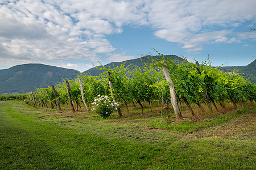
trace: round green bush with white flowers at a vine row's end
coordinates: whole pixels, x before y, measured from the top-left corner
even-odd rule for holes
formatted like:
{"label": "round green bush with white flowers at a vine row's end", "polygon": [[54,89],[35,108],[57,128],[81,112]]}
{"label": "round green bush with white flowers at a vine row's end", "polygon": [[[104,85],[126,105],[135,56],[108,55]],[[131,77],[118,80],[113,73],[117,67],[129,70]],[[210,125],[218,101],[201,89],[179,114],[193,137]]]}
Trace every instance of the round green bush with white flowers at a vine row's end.
{"label": "round green bush with white flowers at a vine row's end", "polygon": [[92,111],[99,114],[103,118],[109,117],[110,114],[113,113],[113,111],[116,109],[115,105],[119,106],[118,103],[114,104],[111,100],[109,100],[109,96],[101,95],[98,95],[92,104],[96,105],[96,108],[93,108]]}

